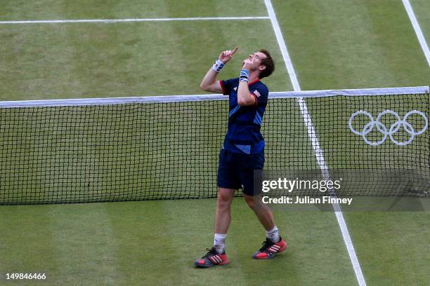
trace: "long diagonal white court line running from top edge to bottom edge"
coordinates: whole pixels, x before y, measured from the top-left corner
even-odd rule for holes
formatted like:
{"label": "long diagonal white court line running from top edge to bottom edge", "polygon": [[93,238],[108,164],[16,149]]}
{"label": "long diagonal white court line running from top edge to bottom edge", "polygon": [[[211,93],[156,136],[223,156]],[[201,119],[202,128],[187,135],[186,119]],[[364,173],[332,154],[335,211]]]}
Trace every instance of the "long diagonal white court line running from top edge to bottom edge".
{"label": "long diagonal white court line running from top edge to bottom edge", "polygon": [[[271,0],[264,0],[264,3],[266,4],[266,8],[269,16],[271,17],[273,30],[275,32],[276,39],[278,40],[282,57],[284,57],[285,66],[287,67],[289,78],[291,79],[294,91],[299,91],[301,90],[299,86],[299,81],[297,81],[297,76],[296,76],[296,73],[294,72],[294,67],[292,66],[292,61],[291,61],[291,58],[289,57],[284,38],[282,37],[282,33],[280,31],[278,20],[276,19],[275,11],[273,10]],[[320,144],[316,136],[315,128],[313,127],[313,124],[312,124],[311,116],[308,113],[308,107],[306,105],[306,102],[304,101],[303,97],[299,97],[297,98],[297,103],[299,104],[301,114],[306,124],[306,128],[308,129],[308,135],[311,138],[312,147],[313,147],[313,150],[315,151],[315,156],[318,161],[318,165],[320,166],[321,172],[323,173],[323,177],[328,180],[330,179],[328,167],[327,167],[327,164],[325,163],[323,150],[320,149]],[[346,227],[344,214],[342,214],[341,207],[339,206],[339,204],[335,203],[332,205],[333,205],[334,212],[336,214],[337,223],[339,224],[339,227],[341,229],[342,237],[344,238],[346,249],[348,250],[349,258],[351,259],[354,272],[356,273],[358,285],[365,286],[366,282],[363,276],[363,271],[361,271],[356,250],[354,250],[351,236],[349,236],[349,231],[348,231],[348,228]]]}

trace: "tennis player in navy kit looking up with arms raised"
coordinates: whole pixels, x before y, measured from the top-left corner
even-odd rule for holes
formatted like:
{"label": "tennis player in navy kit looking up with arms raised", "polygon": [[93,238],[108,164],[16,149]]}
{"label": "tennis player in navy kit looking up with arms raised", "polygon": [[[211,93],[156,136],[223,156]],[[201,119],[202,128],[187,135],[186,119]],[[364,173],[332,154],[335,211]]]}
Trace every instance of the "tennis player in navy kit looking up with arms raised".
{"label": "tennis player in navy kit looking up with arms raised", "polygon": [[224,246],[230,225],[230,205],[235,190],[240,188],[245,201],[266,229],[266,240],[252,257],[272,258],[287,248],[287,243],[279,236],[271,209],[261,201],[261,188],[254,189],[254,170],[262,170],[264,164],[264,139],[260,128],[268,101],[268,88],[260,79],[270,76],[275,64],[267,50],[259,50],[242,62],[238,78],[217,81],[219,71],[237,49],[224,50],[200,83],[204,91],[228,95],[230,112],[228,130],[219,154],[214,247],[195,260],[197,267],[228,264]]}

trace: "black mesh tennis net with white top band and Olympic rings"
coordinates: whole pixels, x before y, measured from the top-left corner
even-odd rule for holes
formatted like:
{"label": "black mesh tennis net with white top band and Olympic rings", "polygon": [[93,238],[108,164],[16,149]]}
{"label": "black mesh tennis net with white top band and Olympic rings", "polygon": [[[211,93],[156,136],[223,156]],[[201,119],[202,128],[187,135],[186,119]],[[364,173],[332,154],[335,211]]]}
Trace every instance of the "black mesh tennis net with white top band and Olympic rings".
{"label": "black mesh tennis net with white top band and Olympic rings", "polygon": [[[429,100],[429,87],[271,93],[265,169],[385,174],[341,194],[426,195]],[[0,102],[0,204],[214,197],[227,118],[223,95]]]}

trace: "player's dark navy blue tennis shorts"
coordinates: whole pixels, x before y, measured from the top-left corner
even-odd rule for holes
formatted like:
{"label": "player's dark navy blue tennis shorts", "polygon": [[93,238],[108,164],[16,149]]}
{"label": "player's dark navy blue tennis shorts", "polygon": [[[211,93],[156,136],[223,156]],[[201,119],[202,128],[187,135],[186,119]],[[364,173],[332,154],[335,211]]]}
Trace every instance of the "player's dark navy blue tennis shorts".
{"label": "player's dark navy blue tennis shorts", "polygon": [[221,149],[216,183],[221,188],[242,189],[246,195],[254,196],[261,193],[261,188],[254,188],[254,170],[263,170],[263,165],[264,153],[240,154]]}

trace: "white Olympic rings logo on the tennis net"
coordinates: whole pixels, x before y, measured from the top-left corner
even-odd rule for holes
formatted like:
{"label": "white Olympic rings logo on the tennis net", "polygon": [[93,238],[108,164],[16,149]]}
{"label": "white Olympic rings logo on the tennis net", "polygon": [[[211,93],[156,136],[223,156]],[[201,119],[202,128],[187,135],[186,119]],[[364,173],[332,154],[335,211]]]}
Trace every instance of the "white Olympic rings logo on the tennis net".
{"label": "white Olympic rings logo on the tennis net", "polygon": [[[370,122],[366,123],[366,125],[364,125],[363,130],[357,131],[356,129],[353,128],[352,122],[353,122],[354,118],[356,118],[356,116],[358,116],[360,114],[367,116],[370,119]],[[391,126],[389,128],[387,128],[386,125],[384,125],[384,123],[381,122],[381,118],[385,114],[391,114],[396,118],[396,122],[391,124]],[[419,114],[424,119],[424,127],[421,130],[416,131],[413,128],[412,124],[410,124],[408,122],[408,117],[411,116],[412,114]],[[415,136],[420,135],[426,131],[426,129],[429,125],[429,120],[428,120],[426,114],[424,114],[424,112],[418,111],[418,110],[409,111],[407,114],[405,114],[405,116],[403,116],[403,119],[400,119],[400,116],[398,115],[397,112],[392,111],[392,110],[385,110],[385,111],[382,111],[380,114],[378,114],[376,120],[373,118],[372,114],[370,114],[369,112],[360,110],[360,111],[356,111],[353,114],[351,114],[351,118],[349,118],[348,125],[349,125],[349,129],[351,129],[351,131],[354,134],[361,135],[363,137],[364,142],[366,142],[369,145],[378,146],[378,145],[384,143],[386,140],[386,137],[389,136],[391,141],[394,144],[396,144],[398,146],[405,146],[405,145],[410,144],[410,142],[412,142],[412,140],[414,139]],[[367,139],[366,135],[369,134],[375,126],[376,126],[377,130],[382,133],[382,139],[380,139],[377,142],[372,142],[369,139]],[[399,142],[398,140],[396,140],[393,137],[394,133],[396,133],[400,128],[403,128],[410,135],[409,139],[406,140],[405,142]]]}

